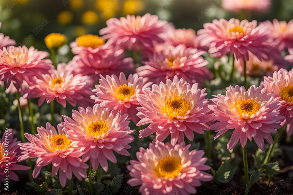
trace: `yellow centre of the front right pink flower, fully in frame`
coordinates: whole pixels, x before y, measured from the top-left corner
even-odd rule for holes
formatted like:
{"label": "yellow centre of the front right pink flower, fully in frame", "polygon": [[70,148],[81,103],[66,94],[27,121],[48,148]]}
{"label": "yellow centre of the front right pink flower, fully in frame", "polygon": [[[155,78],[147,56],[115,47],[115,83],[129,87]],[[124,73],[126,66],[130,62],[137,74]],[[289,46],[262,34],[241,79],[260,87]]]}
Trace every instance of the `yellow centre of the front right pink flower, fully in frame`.
{"label": "yellow centre of the front right pink flower, fully in frame", "polygon": [[[251,98],[239,102],[236,109],[242,118],[250,119],[251,115],[257,113],[257,111],[259,110],[259,105],[254,99]],[[243,113],[244,115],[248,114],[248,117],[243,116]]]}

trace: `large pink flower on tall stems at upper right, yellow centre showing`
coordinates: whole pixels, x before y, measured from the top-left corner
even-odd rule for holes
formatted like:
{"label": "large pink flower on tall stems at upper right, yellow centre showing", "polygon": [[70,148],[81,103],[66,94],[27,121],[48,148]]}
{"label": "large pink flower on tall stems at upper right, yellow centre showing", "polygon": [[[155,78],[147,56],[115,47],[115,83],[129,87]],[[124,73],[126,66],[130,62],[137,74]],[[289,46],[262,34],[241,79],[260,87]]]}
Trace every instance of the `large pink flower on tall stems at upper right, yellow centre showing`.
{"label": "large pink flower on tall stems at upper right, yellow centre showing", "polygon": [[257,26],[257,21],[231,18],[229,21],[221,18],[205,23],[204,29],[197,31],[201,46],[209,46],[212,57],[222,57],[230,52],[235,53],[236,59],[249,60],[248,51],[251,51],[260,60],[265,50],[268,33],[265,28]]}

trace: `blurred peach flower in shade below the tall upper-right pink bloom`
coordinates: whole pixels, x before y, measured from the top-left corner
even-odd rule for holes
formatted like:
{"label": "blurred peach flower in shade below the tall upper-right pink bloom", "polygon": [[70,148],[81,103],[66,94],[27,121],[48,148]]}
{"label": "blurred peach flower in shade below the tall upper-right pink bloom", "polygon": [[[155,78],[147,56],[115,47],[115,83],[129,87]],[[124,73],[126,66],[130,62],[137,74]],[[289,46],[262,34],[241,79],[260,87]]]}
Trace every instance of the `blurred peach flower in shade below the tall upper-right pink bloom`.
{"label": "blurred peach flower in shade below the tall upper-right pink bloom", "polygon": [[[280,70],[282,65],[277,65],[273,60],[260,61],[255,55],[248,51],[249,60],[246,62],[246,74],[251,77],[271,76],[274,71]],[[235,60],[235,68],[243,73],[243,60]]]}

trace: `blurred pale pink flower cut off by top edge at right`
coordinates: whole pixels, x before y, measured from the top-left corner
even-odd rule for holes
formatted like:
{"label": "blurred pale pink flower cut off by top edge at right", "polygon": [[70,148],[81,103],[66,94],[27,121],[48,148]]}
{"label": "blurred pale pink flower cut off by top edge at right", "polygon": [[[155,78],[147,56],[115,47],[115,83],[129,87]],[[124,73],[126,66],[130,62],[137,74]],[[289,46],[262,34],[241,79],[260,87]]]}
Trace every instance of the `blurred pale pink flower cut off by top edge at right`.
{"label": "blurred pale pink flower cut off by top edge at right", "polygon": [[222,7],[227,11],[240,11],[240,9],[265,12],[270,8],[268,0],[222,0]]}

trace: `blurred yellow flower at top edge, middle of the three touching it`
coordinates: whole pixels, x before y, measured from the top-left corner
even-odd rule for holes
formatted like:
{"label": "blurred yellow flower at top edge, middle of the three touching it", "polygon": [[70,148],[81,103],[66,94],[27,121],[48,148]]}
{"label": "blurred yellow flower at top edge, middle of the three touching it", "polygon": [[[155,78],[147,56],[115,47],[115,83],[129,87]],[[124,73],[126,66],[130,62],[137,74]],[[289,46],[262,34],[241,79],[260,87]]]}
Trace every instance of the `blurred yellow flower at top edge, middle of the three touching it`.
{"label": "blurred yellow flower at top edge, middle of the three touching it", "polygon": [[119,8],[118,0],[97,0],[96,9],[100,11],[100,17],[108,20],[116,15],[116,11]]}

